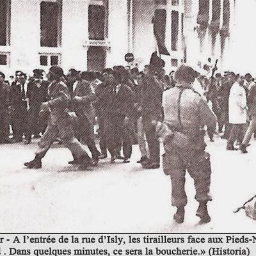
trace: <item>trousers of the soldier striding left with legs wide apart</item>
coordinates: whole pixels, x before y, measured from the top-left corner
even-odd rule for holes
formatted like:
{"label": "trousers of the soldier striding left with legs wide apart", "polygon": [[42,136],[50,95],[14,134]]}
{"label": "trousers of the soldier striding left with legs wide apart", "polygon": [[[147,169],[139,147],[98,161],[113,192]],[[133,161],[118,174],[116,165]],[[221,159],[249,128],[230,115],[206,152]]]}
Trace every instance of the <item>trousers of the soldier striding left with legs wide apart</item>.
{"label": "trousers of the soldier striding left with legs wide apart", "polygon": [[46,131],[38,143],[36,156],[40,158],[44,157],[57,136],[60,137],[65,147],[67,147],[77,159],[82,156],[88,156],[83,145],[75,138],[72,125],[68,122],[58,125],[52,125],[49,122]]}

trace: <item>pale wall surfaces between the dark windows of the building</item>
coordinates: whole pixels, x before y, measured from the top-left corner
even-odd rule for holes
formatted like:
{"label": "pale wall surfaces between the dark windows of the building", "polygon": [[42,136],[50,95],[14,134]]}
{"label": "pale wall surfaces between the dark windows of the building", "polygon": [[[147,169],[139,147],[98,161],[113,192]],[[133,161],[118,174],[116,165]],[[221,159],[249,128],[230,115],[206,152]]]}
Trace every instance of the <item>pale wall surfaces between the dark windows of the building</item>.
{"label": "pale wall surfaces between the dark windows of the building", "polygon": [[[234,0],[230,0],[233,3]],[[170,4],[168,0],[168,4]],[[223,60],[223,69],[234,69],[236,72],[255,72],[254,56],[256,55],[256,36],[252,24],[256,23],[254,10],[255,1],[246,3],[236,1],[235,16],[230,21],[230,47],[227,47]],[[39,67],[38,52],[60,52],[61,65],[65,71],[68,68],[85,70],[87,67],[87,51],[84,42],[88,40],[88,4],[89,0],[63,0],[62,6],[62,44],[56,49],[40,47],[40,0],[12,0],[11,15],[11,45],[0,46],[0,51],[11,52],[11,67],[0,67],[7,73],[24,70],[31,73],[33,68]],[[154,15],[154,0],[133,0],[132,52],[139,67],[149,63],[150,56],[156,49],[153,34],[152,17]],[[185,0],[184,33],[188,63],[196,64],[198,54],[198,36],[194,27],[198,1]],[[170,50],[170,12],[168,5],[166,46]],[[234,22],[235,21],[235,22]],[[232,23],[233,22],[233,23]],[[128,13],[127,0],[109,0],[109,29],[108,39],[110,50],[107,53],[107,67],[125,65],[124,55],[128,52]],[[216,43],[217,56],[220,44]],[[219,53],[218,53],[219,52]],[[180,52],[173,55],[181,57]],[[198,57],[199,56],[199,57]],[[205,54],[206,56],[206,54]],[[234,60],[236,56],[236,60]],[[170,69],[170,57],[164,57],[167,69]],[[239,71],[241,70],[241,71]]]}

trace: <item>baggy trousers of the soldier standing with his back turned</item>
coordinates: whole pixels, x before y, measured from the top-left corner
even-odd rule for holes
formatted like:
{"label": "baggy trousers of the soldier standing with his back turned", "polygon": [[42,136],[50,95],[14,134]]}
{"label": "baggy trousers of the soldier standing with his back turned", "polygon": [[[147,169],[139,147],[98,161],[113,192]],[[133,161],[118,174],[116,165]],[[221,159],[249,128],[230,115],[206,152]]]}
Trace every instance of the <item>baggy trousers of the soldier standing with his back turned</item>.
{"label": "baggy trousers of the soldier standing with his back turned", "polygon": [[198,202],[211,201],[211,162],[204,150],[172,150],[163,155],[163,170],[172,180],[172,205],[184,207],[187,202],[185,192],[186,170],[194,180]]}

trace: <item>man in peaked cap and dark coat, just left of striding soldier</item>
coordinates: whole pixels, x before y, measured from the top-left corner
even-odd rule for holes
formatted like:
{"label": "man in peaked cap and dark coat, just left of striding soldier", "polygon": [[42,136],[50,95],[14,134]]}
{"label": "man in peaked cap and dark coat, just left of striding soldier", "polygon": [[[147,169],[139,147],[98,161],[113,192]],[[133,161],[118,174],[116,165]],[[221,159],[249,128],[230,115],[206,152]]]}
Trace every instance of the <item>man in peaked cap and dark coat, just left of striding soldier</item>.
{"label": "man in peaked cap and dark coat, just left of striding soldier", "polygon": [[34,138],[40,138],[40,132],[43,132],[46,125],[42,125],[42,122],[39,118],[40,106],[42,102],[47,100],[47,90],[48,90],[48,81],[43,80],[44,70],[42,69],[34,69],[33,70],[33,78],[28,83],[27,89],[27,99],[29,104],[28,111],[28,130],[25,136],[25,143],[29,144],[31,142],[32,134],[34,134]]}

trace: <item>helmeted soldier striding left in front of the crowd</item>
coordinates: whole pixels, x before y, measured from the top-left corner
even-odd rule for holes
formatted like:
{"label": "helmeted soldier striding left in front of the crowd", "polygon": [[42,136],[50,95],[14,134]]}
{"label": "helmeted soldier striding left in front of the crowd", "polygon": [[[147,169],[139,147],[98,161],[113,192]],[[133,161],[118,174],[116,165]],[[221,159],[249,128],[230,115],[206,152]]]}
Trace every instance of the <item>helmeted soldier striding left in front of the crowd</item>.
{"label": "helmeted soldier striding left in front of the crowd", "polygon": [[81,164],[82,168],[86,168],[90,164],[90,157],[74,136],[72,122],[67,112],[70,93],[68,92],[67,85],[61,81],[61,77],[63,77],[61,67],[54,65],[49,69],[47,75],[50,82],[48,87],[49,100],[42,103],[40,111],[40,113],[48,113],[48,125],[38,143],[35,159],[24,163],[28,168],[42,168],[42,158],[57,136],[60,136],[63,144],[76,157],[77,163]]}

